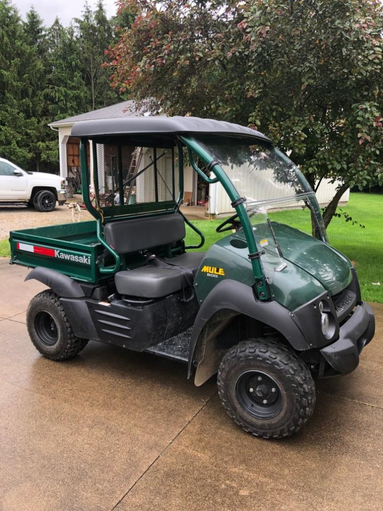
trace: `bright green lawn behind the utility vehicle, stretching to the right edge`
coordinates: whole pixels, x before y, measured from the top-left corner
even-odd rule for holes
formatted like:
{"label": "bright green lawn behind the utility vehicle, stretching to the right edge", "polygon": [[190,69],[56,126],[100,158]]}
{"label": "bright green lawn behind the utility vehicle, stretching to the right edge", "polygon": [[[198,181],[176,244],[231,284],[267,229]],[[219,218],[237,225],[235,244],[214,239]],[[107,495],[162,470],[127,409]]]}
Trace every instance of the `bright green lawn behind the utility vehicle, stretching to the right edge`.
{"label": "bright green lawn behind the utility vehicle, stretching to the right edge", "polygon": [[[354,220],[366,226],[361,229],[344,218],[333,218],[327,229],[331,245],[354,262],[361,285],[363,299],[383,303],[383,195],[353,193],[347,206],[342,207]],[[271,213],[270,217],[311,232],[310,214],[307,210],[290,210]],[[215,229],[222,220],[193,220],[205,234],[205,247],[223,237]],[[195,243],[197,236],[188,231],[186,241]],[[380,282],[374,286],[373,282]]]}

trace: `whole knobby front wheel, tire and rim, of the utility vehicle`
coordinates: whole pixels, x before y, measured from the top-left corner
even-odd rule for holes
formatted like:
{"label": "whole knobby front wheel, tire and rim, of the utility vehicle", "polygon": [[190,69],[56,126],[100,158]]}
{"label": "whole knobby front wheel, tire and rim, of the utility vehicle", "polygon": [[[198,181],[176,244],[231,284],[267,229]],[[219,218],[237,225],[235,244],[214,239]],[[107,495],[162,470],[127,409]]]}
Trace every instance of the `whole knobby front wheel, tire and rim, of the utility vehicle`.
{"label": "whole knobby front wheel, tire and rim, of the utility vehicle", "polygon": [[304,362],[278,341],[249,339],[222,359],[218,393],[230,417],[245,431],[282,438],[313,414],[313,377]]}

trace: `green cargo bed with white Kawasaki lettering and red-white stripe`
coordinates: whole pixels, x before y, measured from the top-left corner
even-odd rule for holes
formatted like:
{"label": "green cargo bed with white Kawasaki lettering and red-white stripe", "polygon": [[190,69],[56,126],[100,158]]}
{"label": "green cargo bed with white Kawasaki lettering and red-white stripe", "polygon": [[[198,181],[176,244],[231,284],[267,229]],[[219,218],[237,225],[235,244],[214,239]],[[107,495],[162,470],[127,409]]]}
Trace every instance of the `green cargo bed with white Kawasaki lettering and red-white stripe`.
{"label": "green cargo bed with white Kawasaki lettering and red-white stripe", "polygon": [[49,225],[10,233],[11,264],[51,268],[76,280],[96,283],[103,246],[95,221]]}

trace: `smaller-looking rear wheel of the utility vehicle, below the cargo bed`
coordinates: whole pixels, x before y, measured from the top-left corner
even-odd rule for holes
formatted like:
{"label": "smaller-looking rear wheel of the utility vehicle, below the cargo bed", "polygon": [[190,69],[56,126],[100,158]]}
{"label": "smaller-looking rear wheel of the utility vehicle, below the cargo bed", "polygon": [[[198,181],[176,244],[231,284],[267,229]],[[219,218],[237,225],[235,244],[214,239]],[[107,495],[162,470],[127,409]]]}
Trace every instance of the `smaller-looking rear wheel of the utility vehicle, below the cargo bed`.
{"label": "smaller-looking rear wheel of the utility vehicle, below the cargo bed", "polygon": [[50,289],[30,301],[27,328],[37,351],[51,360],[74,357],[88,343],[88,339],[80,339],[73,334],[57,294]]}

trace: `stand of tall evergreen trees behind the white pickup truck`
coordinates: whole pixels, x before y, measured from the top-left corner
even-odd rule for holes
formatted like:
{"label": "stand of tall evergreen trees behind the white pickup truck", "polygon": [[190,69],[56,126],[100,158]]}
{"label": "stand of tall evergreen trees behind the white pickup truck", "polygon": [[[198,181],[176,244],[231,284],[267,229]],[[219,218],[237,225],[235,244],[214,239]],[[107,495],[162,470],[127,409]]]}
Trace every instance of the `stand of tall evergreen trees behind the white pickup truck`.
{"label": "stand of tall evergreen trees behind the white pickup truck", "polygon": [[[123,19],[123,18],[121,18]],[[57,170],[57,134],[50,122],[115,103],[102,67],[115,43],[102,1],[81,19],[46,29],[31,7],[22,21],[0,0],[0,156],[30,170]]]}

